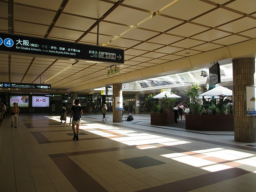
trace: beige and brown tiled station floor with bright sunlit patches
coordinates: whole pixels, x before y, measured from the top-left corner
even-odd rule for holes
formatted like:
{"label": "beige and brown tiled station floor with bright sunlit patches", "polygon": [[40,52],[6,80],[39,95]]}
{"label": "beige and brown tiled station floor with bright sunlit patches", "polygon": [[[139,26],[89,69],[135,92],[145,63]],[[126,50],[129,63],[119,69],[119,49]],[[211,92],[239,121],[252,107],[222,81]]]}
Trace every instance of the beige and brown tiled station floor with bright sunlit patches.
{"label": "beige and brown tiled station floor with bright sunlit patches", "polygon": [[[256,143],[233,132],[150,124],[149,114],[113,123],[82,117],[79,140],[55,114],[0,123],[0,191],[256,191]],[[68,121],[69,122],[69,119]]]}

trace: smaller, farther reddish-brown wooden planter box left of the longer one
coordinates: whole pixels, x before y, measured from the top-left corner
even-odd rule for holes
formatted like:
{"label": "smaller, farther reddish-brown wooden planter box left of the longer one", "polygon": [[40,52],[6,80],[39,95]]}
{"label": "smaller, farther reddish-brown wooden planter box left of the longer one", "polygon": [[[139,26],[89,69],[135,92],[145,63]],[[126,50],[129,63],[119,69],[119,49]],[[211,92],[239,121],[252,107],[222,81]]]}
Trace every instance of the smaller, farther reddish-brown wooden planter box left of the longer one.
{"label": "smaller, farther reddish-brown wooden planter box left of the longer one", "polygon": [[150,113],[152,125],[172,125],[174,124],[174,113]]}

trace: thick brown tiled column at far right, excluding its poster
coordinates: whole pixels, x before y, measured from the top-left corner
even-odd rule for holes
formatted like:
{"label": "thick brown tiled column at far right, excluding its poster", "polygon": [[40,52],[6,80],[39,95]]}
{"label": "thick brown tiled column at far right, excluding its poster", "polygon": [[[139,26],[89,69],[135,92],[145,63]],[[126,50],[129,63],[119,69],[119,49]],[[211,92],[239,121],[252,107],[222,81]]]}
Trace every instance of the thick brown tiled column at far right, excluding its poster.
{"label": "thick brown tiled column at far right, excluding its poster", "polygon": [[245,116],[244,85],[254,85],[254,58],[233,60],[235,141],[256,142],[256,116]]}

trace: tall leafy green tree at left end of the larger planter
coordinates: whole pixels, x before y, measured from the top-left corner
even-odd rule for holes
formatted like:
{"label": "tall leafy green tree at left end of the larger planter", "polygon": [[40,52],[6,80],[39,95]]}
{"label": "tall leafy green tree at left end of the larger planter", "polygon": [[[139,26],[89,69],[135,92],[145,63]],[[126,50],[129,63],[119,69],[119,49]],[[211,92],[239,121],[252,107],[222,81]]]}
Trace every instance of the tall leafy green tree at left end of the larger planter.
{"label": "tall leafy green tree at left end of the larger planter", "polygon": [[191,90],[185,90],[186,94],[188,95],[188,97],[190,98],[189,100],[189,108],[190,108],[190,113],[191,114],[195,114],[197,115],[198,111],[199,111],[199,90],[201,89],[197,83],[192,84],[190,87]]}

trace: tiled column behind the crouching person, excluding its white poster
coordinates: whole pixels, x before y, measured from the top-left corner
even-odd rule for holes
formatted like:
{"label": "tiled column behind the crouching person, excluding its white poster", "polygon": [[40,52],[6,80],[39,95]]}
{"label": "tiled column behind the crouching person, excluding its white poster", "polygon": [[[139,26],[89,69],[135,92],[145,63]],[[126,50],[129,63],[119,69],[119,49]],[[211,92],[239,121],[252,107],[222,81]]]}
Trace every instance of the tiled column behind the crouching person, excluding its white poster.
{"label": "tiled column behind the crouching person, excluding its white poster", "polygon": [[122,84],[113,84],[113,122],[122,122],[122,111],[116,111],[116,97],[122,96]]}

